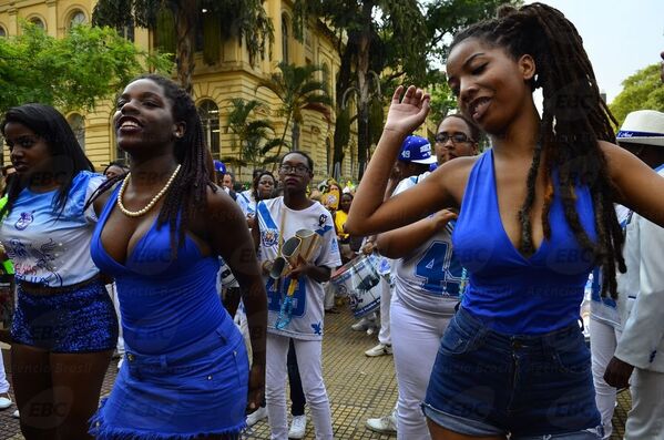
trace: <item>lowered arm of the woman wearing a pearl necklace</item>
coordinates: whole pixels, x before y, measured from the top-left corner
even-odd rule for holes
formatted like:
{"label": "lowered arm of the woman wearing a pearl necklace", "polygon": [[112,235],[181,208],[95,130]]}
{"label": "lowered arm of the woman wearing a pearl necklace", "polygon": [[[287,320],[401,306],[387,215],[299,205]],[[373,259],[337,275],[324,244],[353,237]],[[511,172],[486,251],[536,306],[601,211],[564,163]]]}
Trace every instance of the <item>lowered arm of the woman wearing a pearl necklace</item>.
{"label": "lowered arm of the woman wearing a pearl necklace", "polygon": [[267,294],[261,277],[254,241],[242,209],[223,191],[213,193],[208,190],[205,219],[214,252],[231,267],[242,289],[253,357],[247,408],[254,410],[261,406],[265,388],[267,329]]}

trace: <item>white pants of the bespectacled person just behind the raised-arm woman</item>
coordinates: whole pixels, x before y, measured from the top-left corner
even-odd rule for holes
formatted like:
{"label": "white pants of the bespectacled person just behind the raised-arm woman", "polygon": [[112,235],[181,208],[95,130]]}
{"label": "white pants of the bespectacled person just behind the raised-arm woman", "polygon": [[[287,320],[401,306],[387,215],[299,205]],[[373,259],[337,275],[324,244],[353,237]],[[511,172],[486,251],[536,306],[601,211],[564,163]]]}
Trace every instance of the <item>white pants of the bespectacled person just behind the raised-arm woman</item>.
{"label": "white pants of the bespectacled person just behind the raised-arm woman", "polygon": [[397,370],[397,439],[430,439],[420,403],[440,347],[440,338],[451,317],[426,314],[405,305],[395,295],[390,310],[392,355]]}

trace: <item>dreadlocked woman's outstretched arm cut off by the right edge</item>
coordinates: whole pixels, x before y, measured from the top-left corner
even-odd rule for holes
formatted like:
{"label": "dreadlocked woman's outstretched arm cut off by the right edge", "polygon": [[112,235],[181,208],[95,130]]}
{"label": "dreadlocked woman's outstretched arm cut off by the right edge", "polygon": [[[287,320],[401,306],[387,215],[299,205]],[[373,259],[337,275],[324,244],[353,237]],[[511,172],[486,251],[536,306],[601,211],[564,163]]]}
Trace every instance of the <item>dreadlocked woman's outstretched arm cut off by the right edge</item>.
{"label": "dreadlocked woman's outstretched arm cut off by the right edge", "polygon": [[617,145],[601,141],[600,146],[620,192],[615,202],[664,227],[664,177]]}

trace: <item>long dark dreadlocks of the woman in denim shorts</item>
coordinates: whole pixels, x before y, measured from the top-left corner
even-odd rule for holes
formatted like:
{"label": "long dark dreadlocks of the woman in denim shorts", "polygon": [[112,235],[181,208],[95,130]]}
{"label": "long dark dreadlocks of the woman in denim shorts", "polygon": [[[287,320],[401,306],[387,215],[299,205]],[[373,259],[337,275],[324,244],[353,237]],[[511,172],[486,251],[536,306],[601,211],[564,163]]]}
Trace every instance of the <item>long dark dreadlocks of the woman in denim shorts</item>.
{"label": "long dark dreadlocks of the woman in denim shorts", "polygon": [[[616,264],[625,272],[622,256],[624,237],[613,201],[616,188],[609,177],[607,164],[597,141],[615,143],[615,117],[600,96],[597,82],[583,42],[574,25],[556,9],[532,3],[520,9],[502,7],[498,18],[478,22],[457,34],[450,50],[468,38],[502,48],[518,60],[523,54],[533,58],[537,74],[531,88],[542,88],[543,111],[540,139],[527,177],[528,193],[521,209],[519,250],[534,253],[531,211],[540,163],[544,168],[544,236],[551,238],[549,213],[553,202],[553,174],[562,199],[568,224],[584,252],[591,253],[602,266],[602,295],[616,297]],[[544,154],[543,154],[544,153]],[[597,242],[589,237],[575,208],[575,185],[588,186],[594,206]]]}

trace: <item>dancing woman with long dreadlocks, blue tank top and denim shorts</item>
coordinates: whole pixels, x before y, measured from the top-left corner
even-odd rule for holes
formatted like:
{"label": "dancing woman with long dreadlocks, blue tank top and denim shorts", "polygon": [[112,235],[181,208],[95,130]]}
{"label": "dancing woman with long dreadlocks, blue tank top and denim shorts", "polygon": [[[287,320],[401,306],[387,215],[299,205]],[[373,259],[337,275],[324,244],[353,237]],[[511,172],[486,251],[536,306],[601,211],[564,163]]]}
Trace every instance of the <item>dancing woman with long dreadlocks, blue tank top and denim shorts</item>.
{"label": "dancing woman with long dreadlocks, blue tank top and denim shorts", "polygon": [[433,439],[597,439],[579,306],[593,266],[604,295],[615,295],[616,262],[624,270],[613,203],[664,225],[664,178],[613,144],[581,38],[553,8],[505,8],[471,25],[447,71],[492,150],[382,202],[401,140],[429,111],[428,94],[398,88],[346,228],[368,235],[460,209],[452,243],[470,278],[423,403]]}

